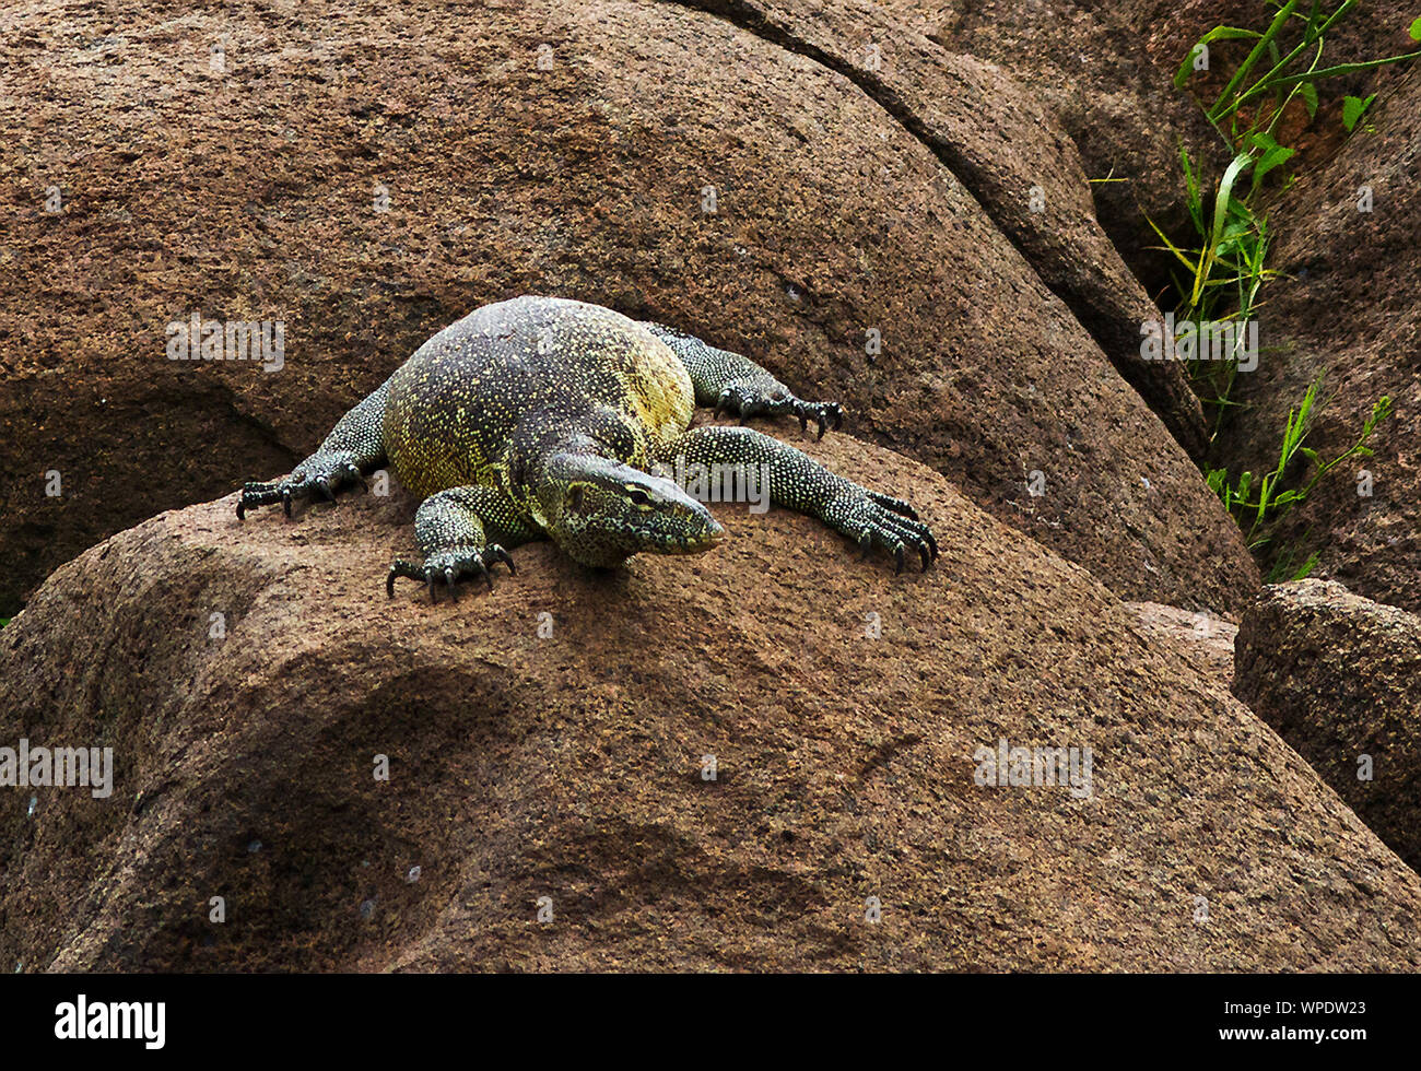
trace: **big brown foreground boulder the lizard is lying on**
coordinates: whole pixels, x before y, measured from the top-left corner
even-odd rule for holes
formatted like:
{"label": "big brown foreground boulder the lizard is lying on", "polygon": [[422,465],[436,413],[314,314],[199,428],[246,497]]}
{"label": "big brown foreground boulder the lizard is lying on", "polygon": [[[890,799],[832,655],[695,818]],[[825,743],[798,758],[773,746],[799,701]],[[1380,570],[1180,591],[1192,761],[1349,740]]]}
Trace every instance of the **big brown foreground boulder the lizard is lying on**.
{"label": "big brown foreground boulder the lizard is lying on", "polygon": [[[115,788],[0,795],[0,962],[1421,967],[1421,878],[1134,611],[918,463],[809,449],[912,499],[936,568],[723,506],[708,555],[537,544],[387,601],[401,496],[87,551],[0,634],[0,741],[111,746]],[[1091,747],[1090,798],[975,784],[1000,739]]]}

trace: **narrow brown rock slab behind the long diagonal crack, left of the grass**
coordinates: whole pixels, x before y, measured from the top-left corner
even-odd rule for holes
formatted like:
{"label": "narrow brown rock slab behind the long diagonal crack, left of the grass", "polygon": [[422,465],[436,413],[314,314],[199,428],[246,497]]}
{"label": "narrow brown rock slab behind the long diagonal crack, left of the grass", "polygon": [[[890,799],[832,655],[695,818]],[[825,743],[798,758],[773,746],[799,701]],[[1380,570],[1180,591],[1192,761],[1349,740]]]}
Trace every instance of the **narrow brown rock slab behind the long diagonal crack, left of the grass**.
{"label": "narrow brown rock slab behind the long diagonal crack, left of the grass", "polygon": [[1204,415],[1182,368],[1140,355],[1140,327],[1160,311],[1096,220],[1077,146],[1039,92],[928,37],[931,23],[912,4],[691,6],[823,62],[878,101],[966,186],[1174,439],[1204,456]]}

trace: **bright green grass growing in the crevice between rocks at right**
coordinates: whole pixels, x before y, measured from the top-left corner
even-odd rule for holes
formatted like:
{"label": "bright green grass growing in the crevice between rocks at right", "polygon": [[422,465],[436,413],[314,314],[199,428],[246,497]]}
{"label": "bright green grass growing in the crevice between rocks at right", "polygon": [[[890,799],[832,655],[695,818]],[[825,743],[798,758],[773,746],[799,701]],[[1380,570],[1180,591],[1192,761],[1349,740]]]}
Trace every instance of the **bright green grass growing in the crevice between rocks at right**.
{"label": "bright green grass growing in the crevice between rocks at right", "polygon": [[[1269,175],[1282,176],[1283,189],[1292,185],[1286,165],[1296,151],[1276,141],[1279,121],[1289,104],[1302,101],[1309,116],[1316,118],[1319,82],[1421,57],[1418,50],[1326,67],[1323,54],[1327,33],[1357,6],[1357,0],[1344,0],[1336,7],[1322,0],[1307,4],[1302,0],[1269,0],[1268,6],[1275,13],[1265,30],[1216,26],[1199,38],[1175,71],[1174,84],[1184,89],[1201,47],[1215,41],[1253,43],[1219,95],[1205,107],[1214,129],[1233,153],[1223,175],[1216,183],[1205,183],[1188,153],[1182,148],[1179,151],[1185,202],[1192,224],[1191,239],[1175,243],[1154,220],[1150,222],[1164,243],[1158,249],[1175,261],[1177,321],[1222,322],[1232,318],[1243,325],[1262,307],[1260,291],[1265,283],[1277,277],[1279,273],[1266,266],[1269,233],[1259,200]],[[1412,40],[1421,41],[1421,17],[1411,23],[1408,33]],[[1292,44],[1286,45],[1285,38]],[[1357,126],[1374,99],[1376,94],[1343,98],[1341,118],[1347,132]],[[1238,338],[1242,338],[1242,332]],[[1232,398],[1238,351],[1225,361],[1195,359],[1188,371],[1211,416],[1212,446],[1218,442],[1228,413],[1238,406]],[[1319,560],[1312,553],[1299,564],[1295,545],[1276,551],[1268,547],[1269,533],[1276,521],[1304,501],[1319,482],[1340,464],[1371,456],[1367,440],[1377,425],[1391,415],[1391,399],[1383,396],[1373,405],[1356,443],[1337,457],[1323,460],[1316,450],[1304,446],[1319,408],[1320,391],[1322,381],[1314,381],[1299,405],[1289,411],[1277,464],[1262,479],[1255,480],[1250,472],[1242,473],[1238,480],[1231,479],[1226,469],[1205,472],[1209,487],[1238,520],[1249,550],[1260,557],[1265,550],[1272,553],[1269,582],[1300,580]]]}

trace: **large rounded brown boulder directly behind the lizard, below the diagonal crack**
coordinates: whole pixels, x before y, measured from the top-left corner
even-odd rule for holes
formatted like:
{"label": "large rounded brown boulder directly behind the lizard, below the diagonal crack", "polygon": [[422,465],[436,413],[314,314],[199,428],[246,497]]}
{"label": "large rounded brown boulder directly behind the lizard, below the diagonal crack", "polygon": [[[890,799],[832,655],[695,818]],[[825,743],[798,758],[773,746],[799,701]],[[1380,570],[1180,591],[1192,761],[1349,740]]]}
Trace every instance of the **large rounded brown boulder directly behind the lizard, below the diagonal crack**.
{"label": "large rounded brown boulder directly behind the lizard, below the diagonal crack", "polygon": [[[1229,612],[1256,585],[1185,452],[959,176],[854,82],[723,18],[115,0],[0,18],[0,270],[26,281],[0,293],[0,612],[158,509],[288,469],[426,337],[519,293],[749,352],[1117,592]],[[993,138],[1034,112],[1002,92],[980,143],[961,109],[944,129],[1006,189]],[[1047,203],[1076,205],[1076,165],[1052,168]],[[1108,308],[1101,271],[1081,286]],[[193,310],[281,320],[284,369],[169,362]]]}

